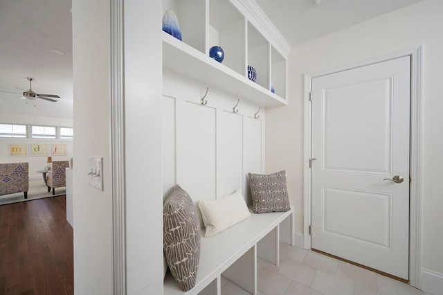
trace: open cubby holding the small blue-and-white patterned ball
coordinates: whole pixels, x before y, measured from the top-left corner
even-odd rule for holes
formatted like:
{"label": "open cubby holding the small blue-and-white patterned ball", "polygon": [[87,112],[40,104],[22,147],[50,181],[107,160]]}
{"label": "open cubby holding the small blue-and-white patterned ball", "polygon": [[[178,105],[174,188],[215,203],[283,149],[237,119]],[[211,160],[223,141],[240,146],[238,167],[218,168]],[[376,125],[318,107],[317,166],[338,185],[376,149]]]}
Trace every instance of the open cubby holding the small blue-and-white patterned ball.
{"label": "open cubby holding the small blue-and-white patterned ball", "polygon": [[[269,77],[269,55],[271,44],[258,30],[248,22],[248,66],[252,66],[257,73],[255,81],[265,89],[271,89]],[[246,68],[247,71],[247,68]],[[246,77],[248,77],[246,72]]]}

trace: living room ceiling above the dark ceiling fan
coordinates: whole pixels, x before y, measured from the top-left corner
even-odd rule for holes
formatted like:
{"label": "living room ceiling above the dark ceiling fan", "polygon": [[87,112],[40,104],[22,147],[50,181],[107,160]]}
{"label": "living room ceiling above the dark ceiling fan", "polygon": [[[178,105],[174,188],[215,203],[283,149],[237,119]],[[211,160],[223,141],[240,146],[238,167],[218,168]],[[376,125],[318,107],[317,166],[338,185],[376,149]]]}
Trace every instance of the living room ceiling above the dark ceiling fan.
{"label": "living room ceiling above the dark ceiling fan", "polygon": [[28,90],[31,77],[35,92],[61,97],[18,100],[21,94],[0,92],[0,113],[72,118],[70,10],[71,0],[0,1],[0,90]]}

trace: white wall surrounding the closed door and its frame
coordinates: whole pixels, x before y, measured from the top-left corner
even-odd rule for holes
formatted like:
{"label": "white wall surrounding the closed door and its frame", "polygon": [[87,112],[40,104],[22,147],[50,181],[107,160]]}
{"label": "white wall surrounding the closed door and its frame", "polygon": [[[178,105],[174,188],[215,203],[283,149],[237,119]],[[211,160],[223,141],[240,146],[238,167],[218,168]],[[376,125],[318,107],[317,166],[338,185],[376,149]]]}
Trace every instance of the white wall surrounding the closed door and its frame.
{"label": "white wall surrounding the closed door and its frame", "polygon": [[303,74],[423,44],[422,268],[443,274],[442,15],[443,1],[424,0],[292,48],[289,105],[266,113],[266,171],[287,168],[296,231],[302,231],[303,220]]}

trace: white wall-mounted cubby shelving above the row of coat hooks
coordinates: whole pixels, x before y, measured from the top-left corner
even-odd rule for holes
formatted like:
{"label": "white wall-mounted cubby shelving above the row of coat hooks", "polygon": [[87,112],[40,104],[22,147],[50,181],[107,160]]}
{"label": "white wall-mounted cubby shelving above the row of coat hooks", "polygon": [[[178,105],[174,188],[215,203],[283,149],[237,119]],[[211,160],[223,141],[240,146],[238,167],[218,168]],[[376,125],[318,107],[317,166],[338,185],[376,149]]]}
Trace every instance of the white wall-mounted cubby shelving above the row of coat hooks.
{"label": "white wall-mounted cubby shelving above the row of coat hooks", "polygon": [[[163,0],[166,10],[177,15],[183,41],[163,32],[164,69],[262,107],[287,104],[287,58],[265,37],[269,33],[242,13],[248,10],[242,1]],[[212,46],[223,49],[223,62],[209,57]],[[255,82],[248,80],[248,65],[257,72]]]}

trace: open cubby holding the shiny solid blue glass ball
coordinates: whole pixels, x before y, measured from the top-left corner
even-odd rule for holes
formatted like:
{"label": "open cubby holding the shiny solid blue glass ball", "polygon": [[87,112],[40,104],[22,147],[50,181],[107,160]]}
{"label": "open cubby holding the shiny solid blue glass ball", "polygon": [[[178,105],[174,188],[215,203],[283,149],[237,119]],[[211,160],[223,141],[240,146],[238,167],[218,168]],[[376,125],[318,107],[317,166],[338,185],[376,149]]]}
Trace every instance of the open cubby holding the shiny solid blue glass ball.
{"label": "open cubby holding the shiny solid blue glass ball", "polygon": [[209,0],[209,26],[206,54],[213,46],[224,51],[221,62],[240,75],[245,75],[246,19],[227,0]]}

